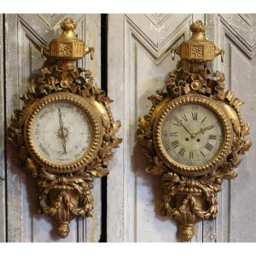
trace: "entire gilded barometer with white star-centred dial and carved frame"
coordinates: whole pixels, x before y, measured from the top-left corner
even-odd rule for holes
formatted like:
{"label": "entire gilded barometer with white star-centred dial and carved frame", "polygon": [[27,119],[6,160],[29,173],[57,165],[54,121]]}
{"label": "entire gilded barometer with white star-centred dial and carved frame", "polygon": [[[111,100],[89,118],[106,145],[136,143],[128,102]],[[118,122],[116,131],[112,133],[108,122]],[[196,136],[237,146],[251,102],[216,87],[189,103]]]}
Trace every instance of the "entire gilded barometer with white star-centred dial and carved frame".
{"label": "entire gilded barometer with white star-centred dial and carved frame", "polygon": [[94,84],[90,70],[74,66],[94,54],[75,28],[65,19],[61,37],[42,46],[47,65],[21,97],[24,107],[15,111],[8,130],[26,171],[36,178],[40,212],[56,219],[63,238],[73,218],[92,216],[93,179],[108,175],[112,148],[121,143],[112,101]]}

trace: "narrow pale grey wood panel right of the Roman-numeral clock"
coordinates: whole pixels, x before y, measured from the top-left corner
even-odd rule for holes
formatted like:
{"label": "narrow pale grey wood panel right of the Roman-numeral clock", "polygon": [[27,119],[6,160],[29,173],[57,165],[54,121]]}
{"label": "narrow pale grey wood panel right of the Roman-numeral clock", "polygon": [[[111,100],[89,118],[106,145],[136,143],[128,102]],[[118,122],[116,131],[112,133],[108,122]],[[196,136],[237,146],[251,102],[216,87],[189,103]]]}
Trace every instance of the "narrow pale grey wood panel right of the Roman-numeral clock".
{"label": "narrow pale grey wood panel right of the Roman-numeral clock", "polygon": [[218,218],[204,224],[204,241],[256,241],[255,18],[256,15],[207,15],[208,38],[225,50],[224,63],[218,60],[213,67],[224,71],[226,88],[245,102],[241,113],[244,122],[251,124],[254,144],[236,169],[238,177],[224,183],[218,197]]}

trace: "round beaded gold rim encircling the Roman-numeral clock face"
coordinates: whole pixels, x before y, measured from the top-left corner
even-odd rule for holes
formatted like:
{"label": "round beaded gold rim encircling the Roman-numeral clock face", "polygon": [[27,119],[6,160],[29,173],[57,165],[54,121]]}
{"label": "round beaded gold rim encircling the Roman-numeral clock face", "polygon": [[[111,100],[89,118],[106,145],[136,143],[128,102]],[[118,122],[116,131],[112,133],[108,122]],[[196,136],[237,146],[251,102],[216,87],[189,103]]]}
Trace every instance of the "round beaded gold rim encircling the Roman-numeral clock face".
{"label": "round beaded gold rim encircling the Roman-numeral clock face", "polygon": [[[224,142],[222,147],[219,149],[218,154],[212,158],[207,164],[201,166],[184,166],[173,160],[172,157],[167,154],[166,149],[163,146],[161,139],[161,129],[165,122],[166,117],[172,110],[181,106],[182,104],[196,103],[204,105],[207,108],[212,109],[214,113],[217,114],[218,118],[221,120],[224,129]],[[230,119],[227,117],[224,110],[214,102],[212,99],[206,96],[200,95],[185,95],[179,96],[176,99],[168,102],[165,108],[163,108],[158,114],[154,122],[153,140],[154,147],[160,159],[166,164],[166,166],[172,168],[174,172],[183,174],[186,176],[201,176],[212,172],[216,167],[220,166],[226,159],[227,155],[230,153],[230,148],[233,141],[233,129]]]}

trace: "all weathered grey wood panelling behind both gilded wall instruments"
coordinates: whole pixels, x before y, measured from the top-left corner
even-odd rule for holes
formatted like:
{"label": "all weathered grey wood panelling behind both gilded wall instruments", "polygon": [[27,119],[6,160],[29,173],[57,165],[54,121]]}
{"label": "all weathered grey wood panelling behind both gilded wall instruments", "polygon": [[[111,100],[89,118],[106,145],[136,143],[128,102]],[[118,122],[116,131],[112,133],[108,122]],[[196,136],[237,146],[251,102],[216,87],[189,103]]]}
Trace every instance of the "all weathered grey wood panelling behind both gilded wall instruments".
{"label": "all weathered grey wood panelling behind both gilded wall instruments", "polygon": [[[108,55],[108,96],[115,119],[121,120],[120,148],[110,163],[107,184],[108,241],[177,241],[177,225],[160,215],[158,178],[147,166],[136,143],[137,119],[148,113],[147,97],[161,88],[177,66],[170,49],[190,37],[189,26],[202,20],[207,38],[225,50],[226,89],[246,104],[245,122],[252,126],[253,147],[237,169],[238,177],[224,182],[218,195],[218,218],[196,225],[193,241],[256,241],[256,15],[108,15],[108,52],[101,52],[101,15],[0,15],[0,241],[99,241],[102,234],[101,180],[95,180],[94,217],[75,219],[67,239],[59,239],[52,221],[37,214],[32,177],[26,175],[6,139],[6,127],[30,77],[42,67],[40,45],[60,34],[60,22],[72,16],[77,33],[96,47],[94,61],[81,61],[101,84],[101,55]],[[253,157],[254,156],[254,157]],[[105,230],[106,231],[106,230]]]}

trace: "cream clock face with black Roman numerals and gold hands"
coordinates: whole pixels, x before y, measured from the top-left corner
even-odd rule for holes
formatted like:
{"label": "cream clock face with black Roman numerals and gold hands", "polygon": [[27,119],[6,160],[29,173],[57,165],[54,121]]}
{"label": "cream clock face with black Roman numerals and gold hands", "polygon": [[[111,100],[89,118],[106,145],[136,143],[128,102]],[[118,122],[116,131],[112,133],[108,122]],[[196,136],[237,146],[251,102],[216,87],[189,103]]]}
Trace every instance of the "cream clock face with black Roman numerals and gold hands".
{"label": "cream clock face with black Roman numerals and gold hands", "polygon": [[161,129],[166,153],[183,166],[210,162],[224,142],[218,115],[202,104],[186,103],[168,113]]}

